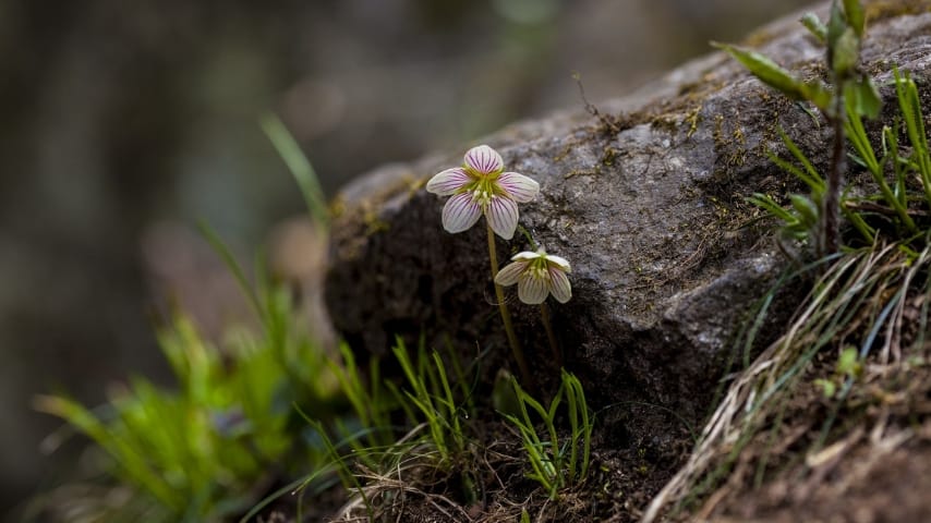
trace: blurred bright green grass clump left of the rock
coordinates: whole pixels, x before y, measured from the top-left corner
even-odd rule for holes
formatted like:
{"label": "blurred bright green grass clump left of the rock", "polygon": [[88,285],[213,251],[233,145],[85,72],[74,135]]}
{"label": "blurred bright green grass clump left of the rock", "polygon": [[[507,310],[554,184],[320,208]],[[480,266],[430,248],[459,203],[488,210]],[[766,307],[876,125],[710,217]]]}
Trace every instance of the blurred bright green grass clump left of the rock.
{"label": "blurred bright green grass clump left of the rock", "polygon": [[[329,416],[337,381],[287,293],[268,289],[261,295],[262,333],[243,332],[217,348],[180,314],[159,332],[177,390],[134,378],[94,411],[61,396],[37,402],[94,440],[112,459],[111,474],[160,506],[161,515],[150,521],[219,521],[242,513],[270,471],[289,462],[313,469],[325,458],[292,428],[291,401]],[[309,373],[316,379],[300,379]]]}

